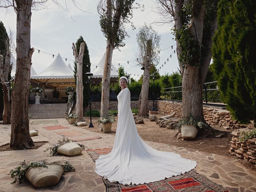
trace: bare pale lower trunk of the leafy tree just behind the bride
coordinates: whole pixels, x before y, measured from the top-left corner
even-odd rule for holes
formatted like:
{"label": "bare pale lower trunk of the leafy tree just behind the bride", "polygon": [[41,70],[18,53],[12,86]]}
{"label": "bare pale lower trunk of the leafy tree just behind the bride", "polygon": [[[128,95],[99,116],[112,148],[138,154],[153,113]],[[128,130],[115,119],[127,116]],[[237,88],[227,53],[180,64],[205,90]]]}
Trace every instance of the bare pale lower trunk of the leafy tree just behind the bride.
{"label": "bare pale lower trunk of the leafy tree just behind the bride", "polygon": [[100,118],[108,115],[109,109],[109,91],[110,91],[110,72],[112,63],[112,54],[114,46],[109,42],[106,48],[106,58],[104,63],[104,71],[102,76],[102,92],[101,92],[101,104],[100,104]]}

